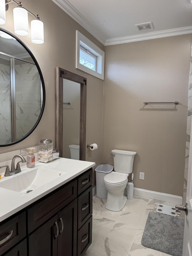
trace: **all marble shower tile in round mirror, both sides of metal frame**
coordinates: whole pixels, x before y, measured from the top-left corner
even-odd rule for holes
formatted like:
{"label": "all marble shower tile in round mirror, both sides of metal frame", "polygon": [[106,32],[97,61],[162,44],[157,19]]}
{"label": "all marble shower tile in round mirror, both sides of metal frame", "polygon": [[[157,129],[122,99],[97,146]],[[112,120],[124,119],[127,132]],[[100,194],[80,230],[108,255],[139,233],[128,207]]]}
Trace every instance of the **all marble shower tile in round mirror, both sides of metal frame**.
{"label": "all marble shower tile in round mirror, both sides of metal frame", "polygon": [[[17,64],[19,62],[19,64]],[[41,112],[41,80],[34,64],[15,59],[16,139],[25,136]],[[0,144],[11,142],[10,65],[0,64]]]}

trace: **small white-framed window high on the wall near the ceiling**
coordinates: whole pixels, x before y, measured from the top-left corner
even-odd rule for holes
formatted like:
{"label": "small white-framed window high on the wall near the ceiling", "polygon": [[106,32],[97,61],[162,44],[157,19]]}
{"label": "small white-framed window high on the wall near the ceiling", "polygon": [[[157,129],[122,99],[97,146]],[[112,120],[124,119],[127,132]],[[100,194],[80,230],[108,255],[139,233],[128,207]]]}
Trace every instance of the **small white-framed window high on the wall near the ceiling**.
{"label": "small white-framed window high on the wall near the ceiling", "polygon": [[76,68],[104,80],[105,53],[76,30]]}

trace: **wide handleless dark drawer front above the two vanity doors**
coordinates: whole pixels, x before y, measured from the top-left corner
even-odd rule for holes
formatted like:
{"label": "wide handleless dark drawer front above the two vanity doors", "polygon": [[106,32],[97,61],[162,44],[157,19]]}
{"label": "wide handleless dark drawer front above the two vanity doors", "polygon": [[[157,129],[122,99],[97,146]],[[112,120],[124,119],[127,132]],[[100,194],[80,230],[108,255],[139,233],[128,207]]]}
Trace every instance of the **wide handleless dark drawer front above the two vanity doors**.
{"label": "wide handleless dark drawer front above the two vanity doors", "polygon": [[77,197],[77,181],[64,185],[28,209],[28,234]]}

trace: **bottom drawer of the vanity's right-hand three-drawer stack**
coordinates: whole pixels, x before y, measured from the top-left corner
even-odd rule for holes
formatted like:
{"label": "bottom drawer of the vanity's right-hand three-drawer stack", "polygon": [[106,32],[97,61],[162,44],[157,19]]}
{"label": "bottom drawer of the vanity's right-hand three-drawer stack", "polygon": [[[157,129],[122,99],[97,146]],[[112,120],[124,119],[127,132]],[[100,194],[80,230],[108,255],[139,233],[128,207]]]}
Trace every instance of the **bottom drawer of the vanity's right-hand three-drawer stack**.
{"label": "bottom drawer of the vanity's right-hand three-drawer stack", "polygon": [[81,256],[92,242],[92,216],[78,231],[77,256]]}

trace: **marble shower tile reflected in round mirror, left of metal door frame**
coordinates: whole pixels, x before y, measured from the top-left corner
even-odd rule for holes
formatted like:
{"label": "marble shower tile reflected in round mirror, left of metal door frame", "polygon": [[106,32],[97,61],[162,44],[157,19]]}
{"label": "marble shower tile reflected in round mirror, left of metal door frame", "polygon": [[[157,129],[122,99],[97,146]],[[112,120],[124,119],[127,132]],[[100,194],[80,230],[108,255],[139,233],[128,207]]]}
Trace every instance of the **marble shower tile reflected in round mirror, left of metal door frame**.
{"label": "marble shower tile reflected in round mirror, left of metal door frame", "polygon": [[0,144],[11,142],[10,65],[0,64]]}

